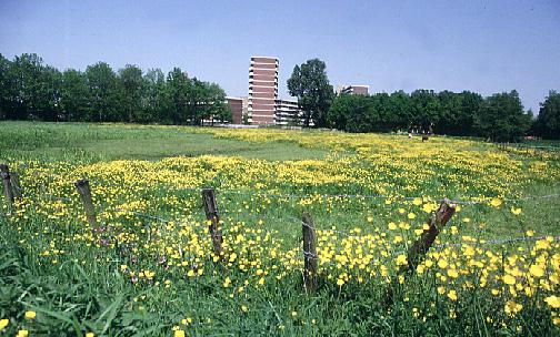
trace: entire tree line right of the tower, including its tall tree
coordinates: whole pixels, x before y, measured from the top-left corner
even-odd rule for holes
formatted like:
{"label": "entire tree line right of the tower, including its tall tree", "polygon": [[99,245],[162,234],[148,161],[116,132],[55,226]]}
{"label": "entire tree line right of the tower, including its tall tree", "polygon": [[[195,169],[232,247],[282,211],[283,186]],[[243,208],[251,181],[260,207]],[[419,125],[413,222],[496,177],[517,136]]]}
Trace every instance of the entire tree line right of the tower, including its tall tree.
{"label": "entire tree line right of the tower, including its tall tree", "polygon": [[516,90],[482,96],[471,91],[416,90],[412,93],[336,95],[326,64],[312,59],[296,65],[288,80],[290,94],[298,98],[303,124],[347,132],[399,130],[437,134],[482,136],[516,141],[531,134],[560,139],[560,94],[550,91],[537,119],[524,111]]}

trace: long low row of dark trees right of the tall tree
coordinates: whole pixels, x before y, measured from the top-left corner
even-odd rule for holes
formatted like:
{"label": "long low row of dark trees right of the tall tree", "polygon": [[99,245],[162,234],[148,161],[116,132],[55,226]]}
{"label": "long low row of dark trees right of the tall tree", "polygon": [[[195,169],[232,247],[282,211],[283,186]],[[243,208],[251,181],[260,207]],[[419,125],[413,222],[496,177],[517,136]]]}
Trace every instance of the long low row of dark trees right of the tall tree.
{"label": "long low row of dark trees right of the tall tree", "polygon": [[527,133],[531,119],[516,91],[483,99],[470,91],[417,90],[410,95],[403,91],[390,95],[341,94],[333,100],[327,122],[330,127],[348,132],[428,132],[431,126],[438,134],[514,141]]}

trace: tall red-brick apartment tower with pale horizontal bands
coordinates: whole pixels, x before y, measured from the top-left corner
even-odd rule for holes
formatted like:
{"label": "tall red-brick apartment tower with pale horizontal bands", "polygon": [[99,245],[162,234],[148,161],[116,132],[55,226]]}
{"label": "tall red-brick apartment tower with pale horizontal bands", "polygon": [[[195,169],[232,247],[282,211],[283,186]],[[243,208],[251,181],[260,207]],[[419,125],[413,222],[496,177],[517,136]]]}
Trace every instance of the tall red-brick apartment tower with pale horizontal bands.
{"label": "tall red-brick apartment tower with pale horizontal bands", "polygon": [[248,116],[251,124],[274,124],[278,59],[252,57],[249,68]]}

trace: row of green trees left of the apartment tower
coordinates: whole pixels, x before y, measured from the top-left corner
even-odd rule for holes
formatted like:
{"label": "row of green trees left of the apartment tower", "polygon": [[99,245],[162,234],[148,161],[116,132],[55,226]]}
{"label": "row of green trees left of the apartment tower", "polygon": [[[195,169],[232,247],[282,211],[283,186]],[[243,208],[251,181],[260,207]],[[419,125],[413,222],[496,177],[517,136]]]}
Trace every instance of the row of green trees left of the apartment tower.
{"label": "row of green trees left of the apartment tower", "polygon": [[0,54],[0,119],[201,125],[229,121],[231,111],[218,84],[180,68],[167,76],[106,62],[59,71],[26,53],[11,61]]}

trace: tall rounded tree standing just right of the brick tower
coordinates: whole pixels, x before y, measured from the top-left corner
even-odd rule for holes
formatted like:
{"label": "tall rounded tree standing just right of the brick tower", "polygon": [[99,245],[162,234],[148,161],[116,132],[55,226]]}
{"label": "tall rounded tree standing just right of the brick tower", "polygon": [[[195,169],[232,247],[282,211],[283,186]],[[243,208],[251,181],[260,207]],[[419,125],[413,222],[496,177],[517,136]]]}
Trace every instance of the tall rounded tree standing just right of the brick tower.
{"label": "tall rounded tree standing just right of the brick tower", "polygon": [[296,65],[288,80],[288,90],[303,110],[303,124],[309,126],[313,121],[316,127],[327,126],[327,112],[333,98],[332,85],[329,84],[327,67],[319,59],[308,60]]}

